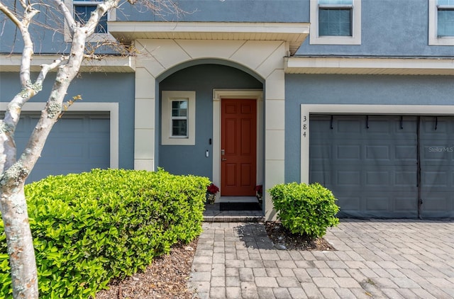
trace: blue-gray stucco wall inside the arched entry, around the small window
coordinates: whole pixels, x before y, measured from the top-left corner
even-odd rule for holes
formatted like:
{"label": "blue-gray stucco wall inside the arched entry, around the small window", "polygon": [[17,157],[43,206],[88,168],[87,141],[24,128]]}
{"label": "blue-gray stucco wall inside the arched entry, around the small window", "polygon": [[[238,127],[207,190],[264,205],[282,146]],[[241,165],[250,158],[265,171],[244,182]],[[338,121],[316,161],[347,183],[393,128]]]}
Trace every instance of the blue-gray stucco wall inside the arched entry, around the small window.
{"label": "blue-gray stucco wall inside the arched entry, around the small window", "polygon": [[[216,64],[187,67],[162,80],[160,91],[196,91],[196,138],[195,145],[161,145],[160,142],[157,166],[172,174],[194,174],[212,179],[213,143],[210,145],[209,139],[213,138],[213,89],[262,87],[262,83],[250,74]],[[160,135],[160,126],[157,128]],[[208,158],[205,157],[206,150],[209,150]]]}

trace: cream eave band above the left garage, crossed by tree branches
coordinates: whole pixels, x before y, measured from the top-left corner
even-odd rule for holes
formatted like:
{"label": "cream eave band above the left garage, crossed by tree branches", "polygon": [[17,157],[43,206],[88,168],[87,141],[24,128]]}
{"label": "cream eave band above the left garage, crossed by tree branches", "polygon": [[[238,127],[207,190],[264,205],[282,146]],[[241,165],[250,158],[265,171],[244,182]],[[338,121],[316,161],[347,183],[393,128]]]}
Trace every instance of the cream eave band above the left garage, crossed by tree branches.
{"label": "cream eave band above the left garage, crossed by tree branches", "polygon": [[[31,71],[39,72],[41,64],[49,64],[60,57],[60,55],[33,55]],[[0,72],[19,72],[21,58],[21,55],[0,55]],[[80,71],[135,72],[135,57],[106,56],[101,60],[84,59]]]}

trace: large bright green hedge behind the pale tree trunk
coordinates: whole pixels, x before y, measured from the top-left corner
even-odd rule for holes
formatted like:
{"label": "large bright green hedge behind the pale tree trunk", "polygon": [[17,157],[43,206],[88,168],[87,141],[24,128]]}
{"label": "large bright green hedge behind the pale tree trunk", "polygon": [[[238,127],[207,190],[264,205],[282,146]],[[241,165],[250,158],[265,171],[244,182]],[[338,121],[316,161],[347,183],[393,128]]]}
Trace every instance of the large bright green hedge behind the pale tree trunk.
{"label": "large bright green hedge behind the pale tree trunk", "polygon": [[[209,179],[94,169],[26,186],[40,298],[89,298],[201,232]],[[12,298],[0,220],[0,298]]]}

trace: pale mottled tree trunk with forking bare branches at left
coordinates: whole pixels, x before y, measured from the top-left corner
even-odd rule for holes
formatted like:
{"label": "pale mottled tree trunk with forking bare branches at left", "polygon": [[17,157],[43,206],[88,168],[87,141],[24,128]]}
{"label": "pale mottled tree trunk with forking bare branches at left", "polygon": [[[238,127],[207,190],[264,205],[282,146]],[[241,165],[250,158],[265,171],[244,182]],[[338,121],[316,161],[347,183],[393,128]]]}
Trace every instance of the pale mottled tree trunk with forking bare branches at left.
{"label": "pale mottled tree trunk with forking bare branches at left", "polygon": [[[11,266],[13,298],[16,299],[38,298],[38,274],[35,252],[23,189],[25,181],[40,157],[52,126],[60,117],[67,89],[72,79],[79,72],[84,59],[87,37],[94,33],[94,28],[99,23],[101,16],[109,9],[117,6],[119,0],[101,2],[92,13],[90,20],[82,27],[79,27],[74,22],[63,1],[54,1],[55,6],[62,11],[70,27],[72,45],[67,64],[60,65],[61,61],[57,60],[51,64],[43,65],[34,84],[30,80],[33,42],[28,32],[28,25],[38,11],[33,9],[32,4],[25,0],[19,0],[24,9],[23,19],[19,20],[18,16],[0,1],[0,11],[16,24],[24,41],[20,74],[22,91],[9,103],[4,120],[0,120],[0,211],[4,222]],[[46,74],[50,69],[57,66],[59,66],[57,77],[45,108],[41,112],[41,117],[28,140],[26,149],[21,154],[21,157],[16,160],[16,144],[13,140],[13,135],[21,115],[22,106],[41,90]]]}

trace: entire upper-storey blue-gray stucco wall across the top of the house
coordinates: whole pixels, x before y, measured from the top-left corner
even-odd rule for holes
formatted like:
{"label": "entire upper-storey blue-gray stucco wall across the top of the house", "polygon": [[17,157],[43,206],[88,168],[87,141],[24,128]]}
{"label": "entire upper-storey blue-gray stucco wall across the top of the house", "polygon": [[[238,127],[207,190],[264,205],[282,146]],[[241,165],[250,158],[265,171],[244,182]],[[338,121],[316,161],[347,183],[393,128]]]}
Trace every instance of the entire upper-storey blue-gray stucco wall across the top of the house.
{"label": "entire upper-storey blue-gray stucco wall across the top of the house", "polygon": [[[309,45],[306,38],[297,55],[453,57],[452,46],[428,45],[428,0],[362,0],[361,3],[361,45]],[[137,6],[124,5],[116,16],[118,21],[309,23],[309,0],[180,0],[177,4],[185,13],[164,11],[158,16]],[[61,18],[46,18],[45,13],[38,15],[38,21],[50,28],[61,28]],[[0,52],[20,53],[21,38],[12,22],[6,20],[1,25]],[[35,53],[69,50],[61,33],[36,26],[31,32]]]}

